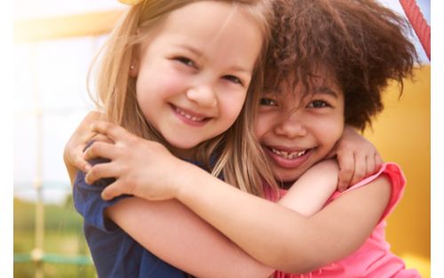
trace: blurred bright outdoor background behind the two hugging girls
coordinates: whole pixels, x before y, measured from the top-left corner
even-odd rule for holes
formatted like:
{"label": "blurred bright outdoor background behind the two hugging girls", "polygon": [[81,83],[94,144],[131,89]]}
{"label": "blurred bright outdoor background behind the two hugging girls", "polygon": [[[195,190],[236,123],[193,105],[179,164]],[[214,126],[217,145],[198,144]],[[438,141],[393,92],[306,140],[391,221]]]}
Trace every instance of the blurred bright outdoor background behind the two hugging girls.
{"label": "blurred bright outdoor background behind the two hugging girls", "polygon": [[[396,0],[381,0],[403,13]],[[430,0],[416,1],[430,24]],[[93,109],[86,75],[126,7],[115,0],[14,1],[14,277],[96,277],[75,212],[62,153]],[[413,34],[413,33],[412,33]],[[387,239],[408,267],[430,277],[430,62],[404,93],[392,85],[385,112],[365,136],[408,179],[388,220]]]}

